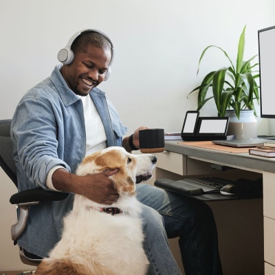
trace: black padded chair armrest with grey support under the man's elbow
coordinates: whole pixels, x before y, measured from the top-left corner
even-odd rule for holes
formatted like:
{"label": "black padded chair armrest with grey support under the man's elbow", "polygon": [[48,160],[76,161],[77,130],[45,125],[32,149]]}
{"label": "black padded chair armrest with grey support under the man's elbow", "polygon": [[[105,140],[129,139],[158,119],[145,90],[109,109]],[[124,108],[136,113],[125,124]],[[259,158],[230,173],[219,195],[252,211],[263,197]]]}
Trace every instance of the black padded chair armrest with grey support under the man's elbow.
{"label": "black padded chair armrest with grey support under the man's elbow", "polygon": [[34,188],[18,192],[10,197],[10,203],[17,204],[19,208],[18,221],[11,228],[12,241],[16,243],[17,239],[23,231],[28,221],[30,206],[34,206],[41,201],[61,201],[65,199],[69,193],[44,190],[43,188]]}

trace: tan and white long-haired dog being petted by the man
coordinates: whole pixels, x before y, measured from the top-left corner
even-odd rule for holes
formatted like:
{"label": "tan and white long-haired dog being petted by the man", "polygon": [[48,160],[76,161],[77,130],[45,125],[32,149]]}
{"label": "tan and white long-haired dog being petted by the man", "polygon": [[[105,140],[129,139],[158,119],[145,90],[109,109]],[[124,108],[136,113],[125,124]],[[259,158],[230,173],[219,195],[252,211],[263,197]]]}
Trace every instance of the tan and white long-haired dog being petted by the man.
{"label": "tan and white long-haired dog being petted by the man", "polygon": [[157,157],[133,155],[112,146],[91,154],[78,166],[77,175],[104,173],[118,191],[118,200],[101,205],[75,195],[72,211],[49,258],[41,261],[36,275],[143,275],[148,259],[143,249],[141,203],[135,197],[135,183],[151,177]]}

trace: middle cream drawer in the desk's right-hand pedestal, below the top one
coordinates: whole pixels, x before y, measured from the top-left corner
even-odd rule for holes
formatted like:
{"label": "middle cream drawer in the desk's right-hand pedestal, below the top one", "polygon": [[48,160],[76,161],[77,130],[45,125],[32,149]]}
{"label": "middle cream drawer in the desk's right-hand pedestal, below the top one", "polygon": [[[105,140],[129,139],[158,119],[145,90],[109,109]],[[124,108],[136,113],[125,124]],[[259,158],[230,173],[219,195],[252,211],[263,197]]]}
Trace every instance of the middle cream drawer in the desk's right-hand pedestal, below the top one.
{"label": "middle cream drawer in the desk's right-hand pedestal, below the top one", "polygon": [[275,265],[275,220],[263,217],[265,262]]}

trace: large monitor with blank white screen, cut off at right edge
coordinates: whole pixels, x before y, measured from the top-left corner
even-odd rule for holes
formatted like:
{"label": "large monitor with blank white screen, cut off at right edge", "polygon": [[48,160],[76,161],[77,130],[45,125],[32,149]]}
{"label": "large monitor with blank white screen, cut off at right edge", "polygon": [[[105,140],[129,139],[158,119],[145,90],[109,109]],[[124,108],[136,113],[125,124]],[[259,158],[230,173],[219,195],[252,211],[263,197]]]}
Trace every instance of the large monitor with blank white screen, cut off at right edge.
{"label": "large monitor with blank white screen, cut off at right edge", "polygon": [[261,118],[275,118],[275,26],[258,31]]}

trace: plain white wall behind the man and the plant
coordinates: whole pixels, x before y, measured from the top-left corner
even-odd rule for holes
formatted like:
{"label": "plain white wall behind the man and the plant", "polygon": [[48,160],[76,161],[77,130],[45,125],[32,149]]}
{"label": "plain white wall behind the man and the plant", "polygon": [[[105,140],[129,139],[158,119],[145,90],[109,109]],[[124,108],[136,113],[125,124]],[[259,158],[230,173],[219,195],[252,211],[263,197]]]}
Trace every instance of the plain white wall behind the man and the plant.
{"label": "plain white wall behind the man and the plant", "polygon": [[[180,131],[184,113],[196,109],[188,93],[210,69],[228,63],[209,52],[199,76],[199,56],[207,45],[219,45],[236,59],[237,43],[247,25],[245,56],[258,53],[257,30],[274,25],[274,0],[1,0],[0,118],[11,118],[20,98],[52,72],[56,54],[85,28],[106,32],[113,41],[113,73],[101,87],[120,112],[129,133],[137,126]],[[217,57],[219,56],[219,57]],[[210,61],[210,62],[208,62]],[[202,115],[216,115],[212,106]],[[267,133],[267,120],[259,133]],[[0,224],[0,270],[20,267],[7,228],[15,212],[4,212],[14,190],[3,178]],[[12,261],[10,261],[12,259]]]}

